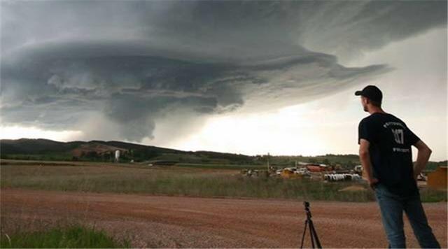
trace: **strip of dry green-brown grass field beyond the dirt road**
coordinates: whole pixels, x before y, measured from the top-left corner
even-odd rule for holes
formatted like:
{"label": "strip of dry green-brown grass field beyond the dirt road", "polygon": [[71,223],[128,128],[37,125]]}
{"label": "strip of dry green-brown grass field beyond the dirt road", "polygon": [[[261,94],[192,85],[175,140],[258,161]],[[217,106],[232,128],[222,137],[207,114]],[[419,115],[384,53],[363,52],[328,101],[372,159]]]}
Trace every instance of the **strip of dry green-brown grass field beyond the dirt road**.
{"label": "strip of dry green-brown grass field beyond the dirt road", "polygon": [[[309,179],[248,178],[244,166],[182,164],[144,166],[87,162],[14,162],[1,165],[1,187],[81,192],[145,193],[190,197],[248,197],[328,201],[374,201],[365,183]],[[341,192],[353,184],[366,191]],[[447,201],[447,193],[421,190],[422,201]]]}

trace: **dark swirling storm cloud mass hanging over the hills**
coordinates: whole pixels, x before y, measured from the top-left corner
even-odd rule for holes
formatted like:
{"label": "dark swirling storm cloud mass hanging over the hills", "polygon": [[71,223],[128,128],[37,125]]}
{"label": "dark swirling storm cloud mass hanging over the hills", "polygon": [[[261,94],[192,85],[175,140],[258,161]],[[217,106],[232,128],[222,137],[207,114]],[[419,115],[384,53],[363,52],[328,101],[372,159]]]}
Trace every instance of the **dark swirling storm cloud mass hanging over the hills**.
{"label": "dark swirling storm cloud mass hanging over the hills", "polygon": [[445,1],[0,4],[1,123],[128,141],[153,138],[170,113],[190,113],[188,126],[363,83],[387,62],[348,68],[338,57],[447,23]]}

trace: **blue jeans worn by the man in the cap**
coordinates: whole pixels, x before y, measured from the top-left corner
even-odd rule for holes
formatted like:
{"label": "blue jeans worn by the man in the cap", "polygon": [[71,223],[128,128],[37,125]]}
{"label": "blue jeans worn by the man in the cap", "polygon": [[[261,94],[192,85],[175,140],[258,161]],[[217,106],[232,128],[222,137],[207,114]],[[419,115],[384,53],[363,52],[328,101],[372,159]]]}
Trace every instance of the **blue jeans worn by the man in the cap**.
{"label": "blue jeans worn by the man in the cap", "polygon": [[403,211],[407,215],[421,248],[440,248],[440,244],[428,225],[419,193],[411,197],[402,197],[389,192],[381,183],[375,185],[374,192],[381,211],[381,220],[389,243],[388,248],[406,248]]}

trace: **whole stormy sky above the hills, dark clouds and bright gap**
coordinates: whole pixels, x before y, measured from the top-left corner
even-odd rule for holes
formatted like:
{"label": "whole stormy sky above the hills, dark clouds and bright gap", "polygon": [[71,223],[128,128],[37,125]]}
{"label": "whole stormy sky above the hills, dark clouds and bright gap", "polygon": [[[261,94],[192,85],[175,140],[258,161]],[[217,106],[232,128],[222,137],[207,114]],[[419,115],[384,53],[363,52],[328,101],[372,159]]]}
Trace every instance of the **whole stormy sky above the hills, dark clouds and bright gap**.
{"label": "whole stormy sky above the hills, dark clouds and bright gap", "polygon": [[368,113],[353,93],[377,85],[431,159],[448,157],[447,1],[0,7],[0,138],[356,154]]}

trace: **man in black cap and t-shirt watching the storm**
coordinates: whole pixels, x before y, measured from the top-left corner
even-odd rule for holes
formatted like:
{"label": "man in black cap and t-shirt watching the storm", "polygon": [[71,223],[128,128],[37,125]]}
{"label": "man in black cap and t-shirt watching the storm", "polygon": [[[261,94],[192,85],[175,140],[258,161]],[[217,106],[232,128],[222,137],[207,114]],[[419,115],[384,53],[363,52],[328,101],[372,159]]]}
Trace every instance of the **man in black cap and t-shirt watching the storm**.
{"label": "man in black cap and t-shirt watching the storm", "polygon": [[[406,247],[403,211],[421,248],[440,248],[428,225],[416,185],[416,176],[426,166],[430,148],[405,122],[382,110],[383,94],[378,87],[368,85],[355,95],[360,96],[364,111],[370,113],[359,123],[359,157],[379,204],[389,248]],[[411,145],[419,150],[414,166]]]}

